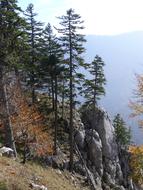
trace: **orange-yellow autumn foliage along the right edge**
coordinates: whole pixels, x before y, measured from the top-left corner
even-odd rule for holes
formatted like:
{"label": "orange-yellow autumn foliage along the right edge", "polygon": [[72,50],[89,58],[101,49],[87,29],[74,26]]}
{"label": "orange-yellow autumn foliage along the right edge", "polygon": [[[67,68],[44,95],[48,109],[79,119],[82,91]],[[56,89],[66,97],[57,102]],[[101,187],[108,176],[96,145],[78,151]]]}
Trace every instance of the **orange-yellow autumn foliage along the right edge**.
{"label": "orange-yellow autumn foliage along the right edge", "polygon": [[[132,109],[131,117],[136,117],[138,124],[143,127],[143,75],[136,75],[136,79],[135,98],[130,102],[129,106]],[[131,153],[131,176],[136,183],[143,184],[143,145],[131,146],[129,151]]]}

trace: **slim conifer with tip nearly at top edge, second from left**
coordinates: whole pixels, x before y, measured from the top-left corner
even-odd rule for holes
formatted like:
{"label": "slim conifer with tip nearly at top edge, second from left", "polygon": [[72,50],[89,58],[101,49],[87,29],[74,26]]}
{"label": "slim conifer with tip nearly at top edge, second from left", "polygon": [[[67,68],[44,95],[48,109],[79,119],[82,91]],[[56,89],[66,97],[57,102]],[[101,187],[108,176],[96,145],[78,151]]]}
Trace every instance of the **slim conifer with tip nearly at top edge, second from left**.
{"label": "slim conifer with tip nearly at top edge, second from left", "polygon": [[28,35],[28,45],[29,45],[29,60],[27,64],[28,75],[30,78],[30,87],[32,91],[32,103],[36,100],[35,95],[35,85],[37,82],[37,70],[39,64],[39,49],[40,49],[40,37],[42,34],[42,26],[41,22],[36,21],[37,14],[34,12],[34,5],[29,4],[25,17],[27,21],[27,35]]}

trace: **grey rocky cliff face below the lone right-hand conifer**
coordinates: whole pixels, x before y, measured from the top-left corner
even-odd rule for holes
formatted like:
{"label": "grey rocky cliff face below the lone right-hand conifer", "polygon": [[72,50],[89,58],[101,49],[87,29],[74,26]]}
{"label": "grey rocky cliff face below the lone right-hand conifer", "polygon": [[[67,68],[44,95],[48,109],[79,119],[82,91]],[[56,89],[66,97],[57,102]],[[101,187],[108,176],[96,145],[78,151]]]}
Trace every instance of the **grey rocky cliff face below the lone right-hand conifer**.
{"label": "grey rocky cliff face below the lone right-hand conifer", "polygon": [[82,122],[77,122],[75,142],[84,162],[94,178],[94,189],[135,190],[128,178],[128,153],[119,154],[115,132],[108,114],[97,109],[95,119],[90,109],[82,113]]}

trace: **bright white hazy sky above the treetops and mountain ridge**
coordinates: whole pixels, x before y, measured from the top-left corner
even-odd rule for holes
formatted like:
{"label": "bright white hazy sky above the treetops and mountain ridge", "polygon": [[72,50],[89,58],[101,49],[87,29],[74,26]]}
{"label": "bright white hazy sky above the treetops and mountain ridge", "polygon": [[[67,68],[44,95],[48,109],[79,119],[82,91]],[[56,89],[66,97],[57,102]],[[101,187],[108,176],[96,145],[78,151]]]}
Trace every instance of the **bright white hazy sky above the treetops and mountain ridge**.
{"label": "bright white hazy sky above the treetops and mountain ridge", "polygon": [[85,34],[116,35],[143,31],[143,0],[19,0],[23,9],[35,5],[38,19],[57,26],[56,16],[75,9],[85,21]]}

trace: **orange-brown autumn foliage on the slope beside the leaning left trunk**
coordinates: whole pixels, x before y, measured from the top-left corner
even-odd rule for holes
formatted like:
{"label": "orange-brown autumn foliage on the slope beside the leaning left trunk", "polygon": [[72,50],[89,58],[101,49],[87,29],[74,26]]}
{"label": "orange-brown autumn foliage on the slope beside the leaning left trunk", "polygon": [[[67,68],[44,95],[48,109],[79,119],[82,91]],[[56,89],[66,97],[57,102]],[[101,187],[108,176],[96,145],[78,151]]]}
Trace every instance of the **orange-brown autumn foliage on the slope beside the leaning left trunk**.
{"label": "orange-brown autumn foliage on the slope beside the leaning left trunk", "polygon": [[28,147],[35,156],[53,154],[53,140],[46,131],[44,117],[34,105],[29,105],[18,82],[8,86],[11,122],[17,146]]}

